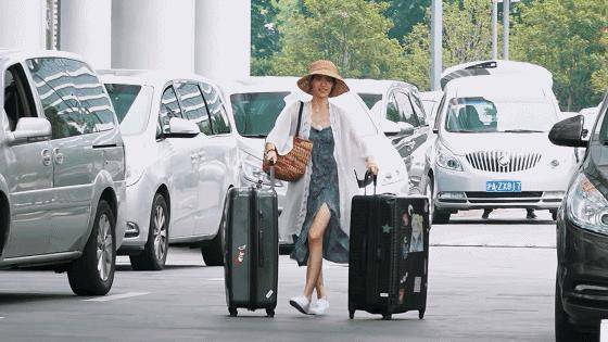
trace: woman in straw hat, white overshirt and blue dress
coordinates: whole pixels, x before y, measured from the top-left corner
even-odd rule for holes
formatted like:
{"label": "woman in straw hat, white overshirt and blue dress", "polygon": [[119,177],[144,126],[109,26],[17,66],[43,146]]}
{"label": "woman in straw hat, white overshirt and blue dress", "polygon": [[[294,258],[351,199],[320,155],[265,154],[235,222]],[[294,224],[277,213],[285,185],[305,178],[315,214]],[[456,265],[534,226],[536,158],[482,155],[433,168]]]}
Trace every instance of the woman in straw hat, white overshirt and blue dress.
{"label": "woman in straw hat, white overshirt and blue dress", "polygon": [[[300,137],[313,141],[313,153],[304,177],[289,185],[279,225],[300,231],[291,257],[300,266],[307,265],[304,292],[290,304],[303,314],[322,315],[329,308],[322,258],[349,262],[351,200],[358,192],[353,169],[365,162],[367,170],[377,174],[378,166],[353,129],[349,113],[328,101],[349,91],[335,65],[330,61],[312,63],[297,86],[313,99],[283,110],[266,138],[264,157],[274,162],[277,153],[290,151],[302,105]],[[315,290],[317,303],[311,307]]]}

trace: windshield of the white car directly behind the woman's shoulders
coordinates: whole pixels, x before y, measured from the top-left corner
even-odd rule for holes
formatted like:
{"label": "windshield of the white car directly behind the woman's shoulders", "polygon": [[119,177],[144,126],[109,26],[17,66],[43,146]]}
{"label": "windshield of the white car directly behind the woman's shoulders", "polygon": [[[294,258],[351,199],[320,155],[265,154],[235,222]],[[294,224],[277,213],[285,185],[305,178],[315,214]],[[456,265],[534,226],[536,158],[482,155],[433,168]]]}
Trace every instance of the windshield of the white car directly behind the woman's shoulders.
{"label": "windshield of the white car directly behind the woman's shoulders", "polygon": [[[237,130],[243,137],[265,138],[275,126],[275,121],[288,103],[308,101],[305,93],[275,91],[248,92],[230,96]],[[330,99],[351,116],[351,123],[362,137],[378,132],[378,125],[359,97],[352,92]]]}

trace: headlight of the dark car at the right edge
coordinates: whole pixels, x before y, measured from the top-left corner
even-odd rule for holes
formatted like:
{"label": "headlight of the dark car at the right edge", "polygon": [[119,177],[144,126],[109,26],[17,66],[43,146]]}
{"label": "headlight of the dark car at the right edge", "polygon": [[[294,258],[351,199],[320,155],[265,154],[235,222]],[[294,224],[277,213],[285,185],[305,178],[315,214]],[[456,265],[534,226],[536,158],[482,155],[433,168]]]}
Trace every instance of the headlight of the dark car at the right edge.
{"label": "headlight of the dark car at the right edge", "polygon": [[608,201],[585,175],[574,180],[566,205],[568,217],[577,226],[608,235]]}

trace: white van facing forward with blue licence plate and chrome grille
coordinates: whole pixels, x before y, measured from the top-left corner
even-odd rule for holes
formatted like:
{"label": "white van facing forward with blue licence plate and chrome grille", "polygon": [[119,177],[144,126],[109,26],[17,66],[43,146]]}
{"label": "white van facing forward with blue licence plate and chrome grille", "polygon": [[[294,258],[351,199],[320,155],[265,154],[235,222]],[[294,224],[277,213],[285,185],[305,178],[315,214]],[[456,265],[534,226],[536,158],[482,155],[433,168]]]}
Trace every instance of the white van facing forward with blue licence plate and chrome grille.
{"label": "white van facing forward with blue licence plate and chrome grille", "polygon": [[497,207],[549,210],[555,219],[577,164],[573,149],[547,139],[558,115],[550,87],[533,77],[447,83],[433,128],[433,220]]}

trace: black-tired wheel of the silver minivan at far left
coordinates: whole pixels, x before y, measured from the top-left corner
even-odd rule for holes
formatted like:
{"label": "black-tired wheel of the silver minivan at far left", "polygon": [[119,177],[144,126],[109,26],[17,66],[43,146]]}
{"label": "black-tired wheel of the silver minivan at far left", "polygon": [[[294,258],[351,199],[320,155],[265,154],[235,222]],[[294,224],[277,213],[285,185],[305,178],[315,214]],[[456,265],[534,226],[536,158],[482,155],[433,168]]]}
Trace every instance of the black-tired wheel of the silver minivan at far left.
{"label": "black-tired wheel of the silver minivan at far left", "polygon": [[116,218],[101,200],[83,255],[72,263],[67,279],[77,295],[104,295],[112,288],[116,268]]}

